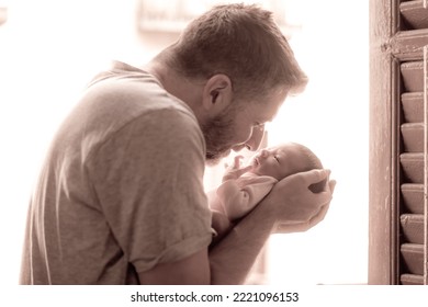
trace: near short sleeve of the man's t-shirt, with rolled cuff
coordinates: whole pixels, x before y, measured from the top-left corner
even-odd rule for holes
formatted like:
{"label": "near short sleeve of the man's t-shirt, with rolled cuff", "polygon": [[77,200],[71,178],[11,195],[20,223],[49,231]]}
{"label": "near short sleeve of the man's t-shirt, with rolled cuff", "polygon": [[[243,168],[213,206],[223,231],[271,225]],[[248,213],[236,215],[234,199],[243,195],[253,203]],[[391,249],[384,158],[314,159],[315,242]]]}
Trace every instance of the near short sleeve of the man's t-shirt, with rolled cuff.
{"label": "near short sleeve of the man's t-shirt, with rolled cuff", "polygon": [[190,113],[160,109],[137,116],[91,152],[88,172],[112,235],[137,272],[210,245],[204,140]]}

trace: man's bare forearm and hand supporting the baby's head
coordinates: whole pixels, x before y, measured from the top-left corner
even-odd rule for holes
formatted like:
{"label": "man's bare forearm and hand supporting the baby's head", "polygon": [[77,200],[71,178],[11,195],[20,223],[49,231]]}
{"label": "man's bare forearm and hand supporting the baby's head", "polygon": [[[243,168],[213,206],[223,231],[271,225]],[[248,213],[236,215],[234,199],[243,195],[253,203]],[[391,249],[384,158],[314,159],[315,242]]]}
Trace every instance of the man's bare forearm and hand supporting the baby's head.
{"label": "man's bare forearm and hand supporting the baby's head", "polygon": [[[289,232],[305,231],[327,213],[335,182],[327,191],[314,194],[307,186],[328,178],[325,170],[288,177],[210,251],[211,283],[241,284],[257,255],[279,224]],[[284,231],[284,229],[283,229]]]}

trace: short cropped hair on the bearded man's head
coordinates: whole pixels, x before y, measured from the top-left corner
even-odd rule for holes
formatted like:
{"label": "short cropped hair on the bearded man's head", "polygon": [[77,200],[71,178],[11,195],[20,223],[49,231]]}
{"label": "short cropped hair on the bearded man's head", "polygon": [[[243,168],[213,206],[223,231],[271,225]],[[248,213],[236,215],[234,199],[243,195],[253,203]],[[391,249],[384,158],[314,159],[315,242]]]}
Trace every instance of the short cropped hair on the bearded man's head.
{"label": "short cropped hair on the bearded man's head", "polygon": [[189,78],[228,76],[240,98],[300,92],[307,82],[272,13],[255,4],[216,5],[193,20],[168,60]]}

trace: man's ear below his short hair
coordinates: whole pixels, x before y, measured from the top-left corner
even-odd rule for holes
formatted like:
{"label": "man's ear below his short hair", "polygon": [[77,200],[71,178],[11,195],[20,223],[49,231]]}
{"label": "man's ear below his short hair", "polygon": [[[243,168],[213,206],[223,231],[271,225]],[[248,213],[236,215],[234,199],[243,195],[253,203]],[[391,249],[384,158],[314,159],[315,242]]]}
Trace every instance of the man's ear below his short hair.
{"label": "man's ear below his short hair", "polygon": [[233,100],[232,81],[223,73],[211,77],[203,90],[203,107],[212,115],[225,110]]}

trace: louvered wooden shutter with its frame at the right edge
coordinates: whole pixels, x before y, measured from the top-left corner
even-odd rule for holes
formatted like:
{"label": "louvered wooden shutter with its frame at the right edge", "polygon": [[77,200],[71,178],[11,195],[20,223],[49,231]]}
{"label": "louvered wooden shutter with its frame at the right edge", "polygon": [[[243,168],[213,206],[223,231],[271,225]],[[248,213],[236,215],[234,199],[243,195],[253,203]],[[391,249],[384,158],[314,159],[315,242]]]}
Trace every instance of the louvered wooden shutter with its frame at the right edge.
{"label": "louvered wooden shutter with its frame at the right edge", "polygon": [[371,284],[428,284],[427,5],[371,0]]}

